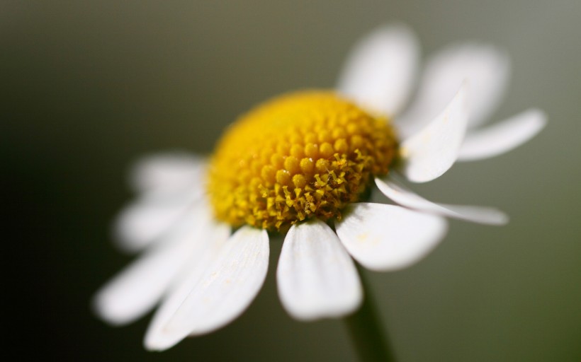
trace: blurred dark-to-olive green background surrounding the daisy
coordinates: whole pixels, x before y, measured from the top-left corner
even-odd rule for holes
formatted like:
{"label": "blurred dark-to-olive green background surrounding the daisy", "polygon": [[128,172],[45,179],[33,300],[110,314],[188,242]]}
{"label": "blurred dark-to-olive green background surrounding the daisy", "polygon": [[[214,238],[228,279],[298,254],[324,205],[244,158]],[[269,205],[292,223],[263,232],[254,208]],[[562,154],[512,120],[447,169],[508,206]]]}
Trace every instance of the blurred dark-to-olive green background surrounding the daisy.
{"label": "blurred dark-to-olive green background surrounding the daisy", "polygon": [[[460,40],[512,54],[495,119],[541,107],[548,127],[498,158],[415,189],[507,211],[501,228],[451,221],[419,264],[368,273],[400,361],[581,361],[581,2],[1,1],[4,354],[74,361],[354,361],[339,320],[290,319],[266,285],[231,325],[162,354],[91,313],[132,257],[111,221],[125,171],[155,151],[209,153],[261,100],[330,88],[351,45],[403,21],[424,55]],[[12,232],[12,233],[10,233]]]}

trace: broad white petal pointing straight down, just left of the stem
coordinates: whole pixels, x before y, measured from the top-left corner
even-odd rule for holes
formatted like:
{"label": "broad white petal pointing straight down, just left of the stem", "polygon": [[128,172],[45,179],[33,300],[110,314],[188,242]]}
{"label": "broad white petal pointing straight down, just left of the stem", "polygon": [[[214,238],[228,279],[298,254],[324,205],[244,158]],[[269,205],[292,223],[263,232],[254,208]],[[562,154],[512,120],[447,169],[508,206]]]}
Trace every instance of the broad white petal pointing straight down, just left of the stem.
{"label": "broad white petal pointing straight down, just left of the stem", "polygon": [[361,303],[361,282],[337,235],[320,220],[288,230],[276,270],[278,296],[298,320],[340,317]]}

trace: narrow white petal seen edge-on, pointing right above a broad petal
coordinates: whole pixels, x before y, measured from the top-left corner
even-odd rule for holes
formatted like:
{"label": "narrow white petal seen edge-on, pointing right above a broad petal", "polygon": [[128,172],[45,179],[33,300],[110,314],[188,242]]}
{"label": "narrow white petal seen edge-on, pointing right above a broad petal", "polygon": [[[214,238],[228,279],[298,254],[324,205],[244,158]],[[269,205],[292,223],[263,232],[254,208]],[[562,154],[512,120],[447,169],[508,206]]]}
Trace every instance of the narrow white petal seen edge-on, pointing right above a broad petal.
{"label": "narrow white petal seen edge-on, pointing right above a broad petal", "polygon": [[392,177],[384,177],[383,180],[376,178],[376,185],[385,196],[410,209],[459,218],[473,223],[504,225],[508,222],[507,214],[490,207],[436,204],[428,201],[395,182]]}

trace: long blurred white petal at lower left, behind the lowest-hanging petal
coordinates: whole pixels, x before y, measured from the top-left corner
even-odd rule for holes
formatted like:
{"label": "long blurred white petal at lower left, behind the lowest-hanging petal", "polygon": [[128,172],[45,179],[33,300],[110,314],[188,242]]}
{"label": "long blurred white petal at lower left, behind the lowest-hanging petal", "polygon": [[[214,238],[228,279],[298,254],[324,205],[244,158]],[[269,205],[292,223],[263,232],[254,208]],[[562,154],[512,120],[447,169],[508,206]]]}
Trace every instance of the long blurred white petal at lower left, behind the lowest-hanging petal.
{"label": "long blurred white petal at lower left, behind the lowest-hanging petal", "polygon": [[227,235],[229,228],[210,224],[208,217],[188,217],[167,236],[165,243],[150,250],[124,269],[95,298],[98,315],[123,325],[154,307],[191,255],[205,247],[209,235]]}

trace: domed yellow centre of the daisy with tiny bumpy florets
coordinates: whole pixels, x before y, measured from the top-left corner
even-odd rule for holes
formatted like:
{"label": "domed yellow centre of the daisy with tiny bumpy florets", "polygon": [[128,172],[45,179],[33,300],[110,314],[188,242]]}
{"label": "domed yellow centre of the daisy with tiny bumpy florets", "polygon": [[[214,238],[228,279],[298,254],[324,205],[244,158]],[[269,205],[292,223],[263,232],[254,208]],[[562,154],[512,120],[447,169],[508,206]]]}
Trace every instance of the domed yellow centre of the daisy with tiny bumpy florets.
{"label": "domed yellow centre of the daisy with tiny bumpy florets", "polygon": [[210,162],[215,216],[232,226],[285,231],[341,218],[373,175],[385,175],[397,142],[388,119],[329,91],[290,93],[242,115]]}

